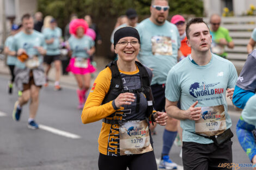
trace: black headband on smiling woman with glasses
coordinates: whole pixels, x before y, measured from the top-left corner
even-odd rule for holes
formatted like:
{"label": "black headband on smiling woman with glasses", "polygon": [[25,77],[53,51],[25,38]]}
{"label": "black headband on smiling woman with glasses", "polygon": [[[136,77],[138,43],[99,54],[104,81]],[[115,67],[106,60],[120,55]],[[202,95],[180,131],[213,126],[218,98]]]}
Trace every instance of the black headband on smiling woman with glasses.
{"label": "black headband on smiling woman with glasses", "polygon": [[138,39],[139,43],[141,43],[141,39],[139,38],[139,33],[138,33],[137,29],[135,29],[133,27],[123,27],[123,28],[118,29],[114,33],[114,48],[115,48],[115,45],[117,45],[117,42],[121,38],[127,37],[127,36],[135,37],[136,39]]}

